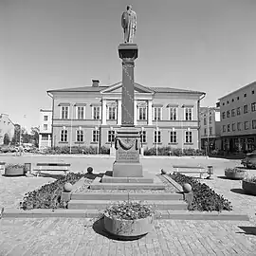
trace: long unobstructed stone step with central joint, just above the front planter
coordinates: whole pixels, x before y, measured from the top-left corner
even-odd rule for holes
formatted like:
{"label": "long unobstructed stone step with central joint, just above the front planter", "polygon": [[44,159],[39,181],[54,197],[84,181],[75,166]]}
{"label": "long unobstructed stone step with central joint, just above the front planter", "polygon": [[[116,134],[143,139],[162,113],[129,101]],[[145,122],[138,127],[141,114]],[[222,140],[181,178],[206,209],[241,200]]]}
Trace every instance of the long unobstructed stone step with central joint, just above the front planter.
{"label": "long unobstructed stone step with central joint, just above the front planter", "polygon": [[[71,200],[128,200],[128,192],[87,192],[72,193]],[[183,200],[182,193],[129,192],[129,200]]]}

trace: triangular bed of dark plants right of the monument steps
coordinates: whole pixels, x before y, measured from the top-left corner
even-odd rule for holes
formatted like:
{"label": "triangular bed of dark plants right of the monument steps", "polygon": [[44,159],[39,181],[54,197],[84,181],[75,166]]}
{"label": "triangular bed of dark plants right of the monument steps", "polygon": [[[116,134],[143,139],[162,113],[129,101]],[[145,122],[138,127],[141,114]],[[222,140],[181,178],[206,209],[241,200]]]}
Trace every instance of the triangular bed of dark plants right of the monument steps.
{"label": "triangular bed of dark plants right of the monument steps", "polygon": [[181,186],[184,183],[189,183],[192,186],[193,200],[189,210],[232,210],[229,200],[211,190],[208,185],[201,184],[194,178],[184,174],[170,174],[170,176]]}

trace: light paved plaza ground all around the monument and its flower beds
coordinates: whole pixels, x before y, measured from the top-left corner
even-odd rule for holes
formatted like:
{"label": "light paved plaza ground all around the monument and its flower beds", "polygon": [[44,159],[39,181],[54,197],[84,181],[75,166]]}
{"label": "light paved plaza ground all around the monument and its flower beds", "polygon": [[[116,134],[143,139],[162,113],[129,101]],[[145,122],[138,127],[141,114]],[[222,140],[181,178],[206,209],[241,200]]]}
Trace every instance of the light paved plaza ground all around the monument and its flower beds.
{"label": "light paved plaza ground all around the monument and its flower beds", "polygon": [[[0,161],[70,162],[74,173],[92,166],[96,173],[112,169],[114,157],[0,155]],[[212,165],[212,180],[201,180],[231,201],[234,212],[247,213],[250,221],[155,221],[154,230],[136,241],[116,241],[102,230],[101,221],[69,218],[17,218],[0,221],[0,255],[256,255],[256,196],[244,194],[241,181],[223,178],[226,167],[240,160],[206,157],[143,157],[144,170],[172,172],[174,164]],[[249,175],[256,175],[250,171]],[[24,194],[52,182],[53,177],[0,176],[0,204],[19,205]]]}

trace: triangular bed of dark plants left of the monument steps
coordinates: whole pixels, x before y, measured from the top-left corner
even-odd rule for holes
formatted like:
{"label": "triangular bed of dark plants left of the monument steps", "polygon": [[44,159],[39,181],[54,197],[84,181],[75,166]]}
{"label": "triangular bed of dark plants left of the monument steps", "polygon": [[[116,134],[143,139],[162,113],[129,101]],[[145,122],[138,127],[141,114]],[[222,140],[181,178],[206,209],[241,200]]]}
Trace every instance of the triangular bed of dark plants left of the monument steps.
{"label": "triangular bed of dark plants left of the monument steps", "polygon": [[61,200],[64,184],[69,182],[74,185],[85,175],[70,173],[36,191],[27,192],[23,201],[20,202],[20,208],[22,210],[66,208],[66,203]]}

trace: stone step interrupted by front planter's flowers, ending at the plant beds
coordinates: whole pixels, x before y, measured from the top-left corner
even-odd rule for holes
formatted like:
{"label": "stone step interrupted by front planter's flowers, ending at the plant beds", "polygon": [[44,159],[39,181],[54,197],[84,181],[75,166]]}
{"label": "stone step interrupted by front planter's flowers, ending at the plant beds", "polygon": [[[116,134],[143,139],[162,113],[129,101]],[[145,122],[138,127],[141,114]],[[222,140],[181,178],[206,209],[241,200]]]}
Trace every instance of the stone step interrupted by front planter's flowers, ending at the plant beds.
{"label": "stone step interrupted by front planter's flowers, ending at the plant beds", "polygon": [[[110,200],[70,200],[68,209],[70,210],[104,210],[113,201]],[[185,201],[181,200],[150,200],[146,204],[155,206],[156,210],[187,210]]]}

